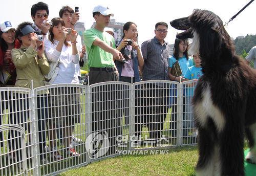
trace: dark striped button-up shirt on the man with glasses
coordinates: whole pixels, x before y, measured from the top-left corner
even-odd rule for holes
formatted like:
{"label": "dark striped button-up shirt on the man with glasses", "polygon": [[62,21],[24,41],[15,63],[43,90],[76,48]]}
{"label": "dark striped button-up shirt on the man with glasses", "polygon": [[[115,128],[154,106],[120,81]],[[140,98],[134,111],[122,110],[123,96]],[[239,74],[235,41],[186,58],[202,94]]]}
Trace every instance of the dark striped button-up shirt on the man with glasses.
{"label": "dark striped button-up shirt on the man with glasses", "polygon": [[144,59],[142,79],[146,80],[169,80],[168,77],[168,58],[169,46],[164,41],[162,45],[154,37],[144,41],[141,46]]}

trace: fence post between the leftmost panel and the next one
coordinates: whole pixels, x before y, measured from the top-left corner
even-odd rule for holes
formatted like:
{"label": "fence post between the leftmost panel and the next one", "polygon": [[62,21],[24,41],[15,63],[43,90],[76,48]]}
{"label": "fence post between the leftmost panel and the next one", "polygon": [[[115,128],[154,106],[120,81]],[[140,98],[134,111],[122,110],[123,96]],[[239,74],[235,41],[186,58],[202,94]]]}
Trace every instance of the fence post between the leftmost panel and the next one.
{"label": "fence post between the leftmost panel and the next one", "polygon": [[32,143],[32,156],[33,156],[33,163],[34,163],[34,172],[35,172],[35,175],[41,175],[41,172],[39,172],[39,165],[38,165],[38,158],[37,158],[37,155],[38,155],[38,150],[37,150],[37,142],[38,142],[38,138],[37,138],[37,131],[38,131],[38,127],[37,127],[37,123],[36,123],[36,113],[35,113],[35,108],[36,108],[36,105],[35,105],[35,99],[36,99],[36,95],[35,95],[35,90],[34,90],[34,85],[33,85],[33,80],[31,81],[31,97],[30,97],[30,109],[31,109],[31,123],[32,123],[32,131],[31,131],[31,136],[32,136],[32,139],[31,139],[31,143]]}

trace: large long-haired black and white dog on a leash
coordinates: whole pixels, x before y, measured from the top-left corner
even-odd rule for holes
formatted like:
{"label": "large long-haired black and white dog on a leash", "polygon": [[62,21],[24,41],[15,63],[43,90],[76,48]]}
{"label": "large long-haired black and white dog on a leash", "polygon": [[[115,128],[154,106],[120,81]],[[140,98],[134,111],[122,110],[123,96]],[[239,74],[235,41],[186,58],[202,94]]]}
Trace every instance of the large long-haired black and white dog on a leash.
{"label": "large long-haired black and white dog on a leash", "polygon": [[256,163],[256,70],[235,54],[233,42],[216,14],[195,9],[170,25],[193,38],[191,54],[200,53],[203,76],[193,98],[199,131],[197,175],[244,175],[244,134]]}

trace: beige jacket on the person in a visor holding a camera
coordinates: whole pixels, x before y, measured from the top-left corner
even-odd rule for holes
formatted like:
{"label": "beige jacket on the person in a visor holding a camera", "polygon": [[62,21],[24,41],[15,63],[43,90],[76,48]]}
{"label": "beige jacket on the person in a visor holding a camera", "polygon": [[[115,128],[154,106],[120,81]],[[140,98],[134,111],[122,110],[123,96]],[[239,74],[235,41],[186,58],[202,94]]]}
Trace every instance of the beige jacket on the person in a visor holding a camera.
{"label": "beige jacket on the person in a visor holding a camera", "polygon": [[45,85],[45,77],[50,71],[50,66],[45,54],[41,59],[37,58],[37,52],[32,48],[12,49],[12,62],[16,67],[15,86],[31,89],[31,80],[34,81],[34,88]]}

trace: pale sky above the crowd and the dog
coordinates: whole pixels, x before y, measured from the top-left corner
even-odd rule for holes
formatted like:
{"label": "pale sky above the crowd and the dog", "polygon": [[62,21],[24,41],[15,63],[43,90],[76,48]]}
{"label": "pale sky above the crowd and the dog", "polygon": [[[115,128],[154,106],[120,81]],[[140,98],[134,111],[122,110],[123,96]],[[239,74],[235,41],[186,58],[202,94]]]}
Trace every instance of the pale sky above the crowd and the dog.
{"label": "pale sky above the crowd and the dog", "polygon": [[[108,6],[115,14],[114,19],[117,22],[126,23],[133,21],[137,25],[139,31],[138,42],[153,38],[155,36],[155,24],[159,21],[164,21],[168,24],[168,33],[165,41],[174,43],[177,33],[182,31],[176,30],[169,25],[169,21],[189,16],[193,9],[205,9],[216,13],[223,20],[223,23],[228,21],[234,14],[241,10],[250,0],[44,0],[42,2],[49,6],[49,20],[53,17],[59,17],[58,12],[62,6],[70,6],[73,9],[79,7],[79,21],[85,23],[85,28],[91,28],[94,18],[92,10],[97,5]],[[32,0],[10,0],[1,1],[0,6],[0,21],[9,20],[14,27],[23,21],[31,21],[30,9],[33,4],[39,1]],[[256,1],[252,2],[243,12],[231,21],[226,28],[232,38],[237,36],[245,36],[246,34],[256,34],[255,23]]]}

